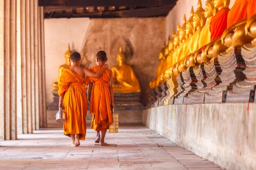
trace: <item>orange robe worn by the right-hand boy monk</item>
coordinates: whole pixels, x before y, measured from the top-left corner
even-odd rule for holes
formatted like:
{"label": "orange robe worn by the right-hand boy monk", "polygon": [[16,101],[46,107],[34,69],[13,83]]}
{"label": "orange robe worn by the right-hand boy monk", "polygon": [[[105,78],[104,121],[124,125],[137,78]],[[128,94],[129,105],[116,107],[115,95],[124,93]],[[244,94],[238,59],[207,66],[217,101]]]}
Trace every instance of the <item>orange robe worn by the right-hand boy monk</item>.
{"label": "orange robe worn by the right-hand boy monk", "polygon": [[[94,66],[90,71],[96,73],[101,66]],[[91,128],[96,131],[107,131],[108,125],[112,124],[110,108],[110,90],[108,82],[110,80],[109,71],[105,70],[98,78],[85,77],[86,84],[93,83],[90,113],[92,113]]]}

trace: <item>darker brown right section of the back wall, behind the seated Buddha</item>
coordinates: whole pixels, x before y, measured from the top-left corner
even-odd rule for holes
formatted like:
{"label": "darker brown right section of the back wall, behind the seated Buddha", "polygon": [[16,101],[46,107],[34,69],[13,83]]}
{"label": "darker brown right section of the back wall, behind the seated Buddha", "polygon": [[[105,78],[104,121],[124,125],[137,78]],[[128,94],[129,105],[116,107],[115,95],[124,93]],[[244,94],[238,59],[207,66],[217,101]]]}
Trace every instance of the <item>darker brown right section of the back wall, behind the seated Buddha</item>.
{"label": "darker brown right section of the back wall, behind the seated Buddha", "polygon": [[126,62],[131,65],[141,86],[141,101],[148,98],[149,82],[156,75],[158,53],[165,38],[165,18],[93,19],[84,39],[83,56],[87,66],[95,65],[97,51],[104,50],[108,64],[117,64],[122,45]]}

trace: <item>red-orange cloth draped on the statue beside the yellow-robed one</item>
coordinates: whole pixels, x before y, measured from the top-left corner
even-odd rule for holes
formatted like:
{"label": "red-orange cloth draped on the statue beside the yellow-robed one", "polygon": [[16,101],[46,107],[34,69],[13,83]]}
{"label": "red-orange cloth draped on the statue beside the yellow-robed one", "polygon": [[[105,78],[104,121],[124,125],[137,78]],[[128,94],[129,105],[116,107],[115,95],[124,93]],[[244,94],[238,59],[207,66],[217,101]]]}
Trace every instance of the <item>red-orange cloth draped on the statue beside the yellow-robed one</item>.
{"label": "red-orange cloth draped on the statue beside the yellow-robed one", "polygon": [[222,8],[218,11],[210,23],[211,41],[218,38],[223,34],[225,29],[227,29],[227,15],[229,13],[229,8]]}

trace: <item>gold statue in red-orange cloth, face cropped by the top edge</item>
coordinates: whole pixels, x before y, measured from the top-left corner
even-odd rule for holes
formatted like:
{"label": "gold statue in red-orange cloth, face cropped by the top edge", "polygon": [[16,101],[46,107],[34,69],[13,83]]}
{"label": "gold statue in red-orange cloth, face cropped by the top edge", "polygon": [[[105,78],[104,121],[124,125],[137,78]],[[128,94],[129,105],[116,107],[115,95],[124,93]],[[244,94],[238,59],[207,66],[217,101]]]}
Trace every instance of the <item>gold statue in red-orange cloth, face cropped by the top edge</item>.
{"label": "gold statue in red-orange cloth, face cropped by the top edge", "polygon": [[229,3],[230,0],[214,0],[214,7],[218,9],[218,12],[213,16],[210,23],[211,41],[220,37],[227,29]]}

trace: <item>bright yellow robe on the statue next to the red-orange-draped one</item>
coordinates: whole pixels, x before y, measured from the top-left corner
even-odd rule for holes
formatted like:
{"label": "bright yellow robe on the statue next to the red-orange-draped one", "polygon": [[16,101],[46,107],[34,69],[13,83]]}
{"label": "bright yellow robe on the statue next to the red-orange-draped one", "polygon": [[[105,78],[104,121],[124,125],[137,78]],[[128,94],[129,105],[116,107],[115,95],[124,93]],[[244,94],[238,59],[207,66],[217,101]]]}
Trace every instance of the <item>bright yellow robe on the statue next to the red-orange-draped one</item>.
{"label": "bright yellow robe on the statue next to the red-orange-draped one", "polygon": [[210,23],[212,17],[208,18],[208,21],[205,23],[204,27],[202,28],[198,40],[198,48],[208,44],[211,42],[211,32],[210,32]]}

